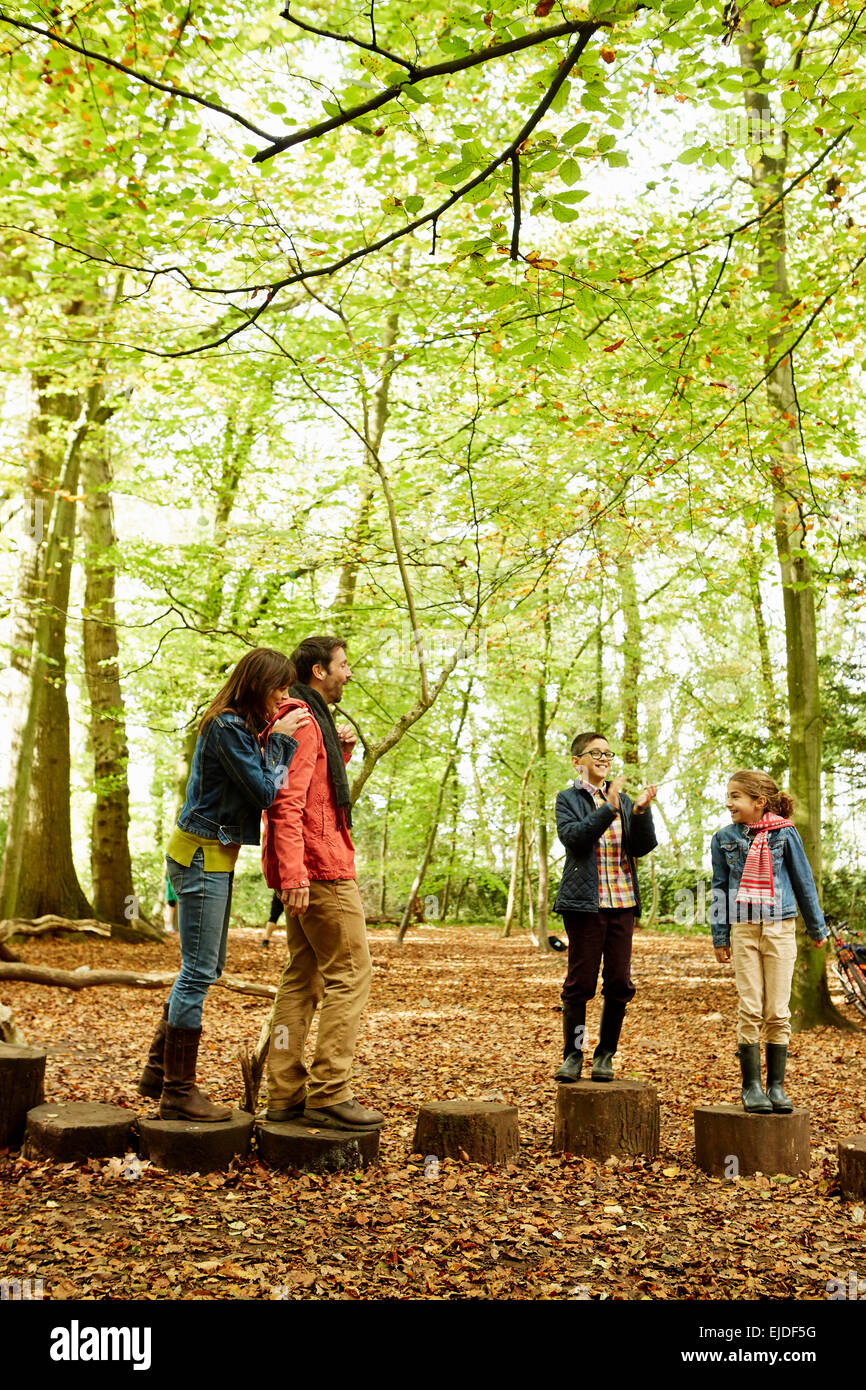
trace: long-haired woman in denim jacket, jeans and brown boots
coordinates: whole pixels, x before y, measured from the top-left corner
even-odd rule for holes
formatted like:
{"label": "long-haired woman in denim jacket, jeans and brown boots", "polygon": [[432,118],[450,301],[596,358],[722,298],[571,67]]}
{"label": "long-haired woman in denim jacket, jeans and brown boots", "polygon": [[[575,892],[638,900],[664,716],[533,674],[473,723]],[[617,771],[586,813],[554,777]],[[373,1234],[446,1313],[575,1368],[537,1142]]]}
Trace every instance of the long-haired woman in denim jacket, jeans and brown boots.
{"label": "long-haired woman in denim jacket, jeans and brown boots", "polygon": [[242,656],[204,712],[186,799],[168,841],[165,865],[178,898],[181,973],[150,1047],[139,1093],[160,1101],[164,1120],[227,1120],[196,1088],[202,1005],[222,974],[235,860],[257,845],[261,812],[282,785],[310,713],[279,719],[264,748],[259,734],[288,698],[295,678],[281,652],[260,646]]}

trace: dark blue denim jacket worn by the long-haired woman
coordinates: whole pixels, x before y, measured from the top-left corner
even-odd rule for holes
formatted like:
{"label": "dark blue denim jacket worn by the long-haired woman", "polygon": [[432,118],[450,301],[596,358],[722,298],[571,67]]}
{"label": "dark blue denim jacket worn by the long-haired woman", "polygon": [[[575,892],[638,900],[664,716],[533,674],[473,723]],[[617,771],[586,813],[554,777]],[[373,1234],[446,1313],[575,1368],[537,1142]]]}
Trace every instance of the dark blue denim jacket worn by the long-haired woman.
{"label": "dark blue denim jacket worn by the long-haired woman", "polygon": [[224,712],[196,739],[181,830],[224,845],[257,845],[261,812],[282,787],[297,744],[270,734],[264,748],[240,714]]}

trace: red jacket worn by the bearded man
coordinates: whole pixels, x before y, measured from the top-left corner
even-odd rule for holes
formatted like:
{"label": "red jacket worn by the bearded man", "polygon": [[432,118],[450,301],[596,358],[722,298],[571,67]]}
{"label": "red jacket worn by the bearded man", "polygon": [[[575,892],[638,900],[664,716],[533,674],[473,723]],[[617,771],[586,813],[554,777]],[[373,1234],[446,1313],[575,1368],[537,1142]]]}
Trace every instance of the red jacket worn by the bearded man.
{"label": "red jacket worn by the bearded man", "polygon": [[[309,706],[299,699],[286,701],[274,719],[282,719],[291,709]],[[306,888],[310,880],[354,878],[354,845],[338,819],[321,730],[311,719],[293,737],[297,752],[264,815],[261,869],[268,888],[277,892]],[[343,749],[346,762],[350,756]]]}

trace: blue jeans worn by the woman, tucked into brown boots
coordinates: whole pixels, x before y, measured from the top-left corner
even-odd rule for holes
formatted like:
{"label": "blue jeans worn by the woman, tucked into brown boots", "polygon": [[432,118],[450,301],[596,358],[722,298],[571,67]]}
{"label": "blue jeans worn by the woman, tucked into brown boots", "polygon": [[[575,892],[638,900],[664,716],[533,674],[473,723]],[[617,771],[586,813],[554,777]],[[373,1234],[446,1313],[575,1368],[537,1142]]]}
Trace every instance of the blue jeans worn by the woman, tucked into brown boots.
{"label": "blue jeans worn by the woman, tucked into brown boots", "polygon": [[168,1024],[172,1029],[200,1029],[204,995],[225,966],[235,876],[207,873],[202,849],[196,849],[189,869],[168,855],[165,867],[178,897],[181,938],[181,973],[168,995]]}

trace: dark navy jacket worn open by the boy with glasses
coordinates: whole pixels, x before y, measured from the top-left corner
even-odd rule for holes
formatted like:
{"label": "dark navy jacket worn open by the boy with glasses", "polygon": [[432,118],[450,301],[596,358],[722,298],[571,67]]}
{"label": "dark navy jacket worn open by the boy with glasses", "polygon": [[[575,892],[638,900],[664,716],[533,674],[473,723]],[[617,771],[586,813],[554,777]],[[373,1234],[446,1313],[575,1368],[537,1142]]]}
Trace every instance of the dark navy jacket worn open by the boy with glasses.
{"label": "dark navy jacket worn open by the boy with glasses", "polygon": [[[596,806],[592,795],[574,783],[556,798],[556,834],[566,848],[566,866],[553,903],[553,912],[598,912],[598,862],[596,841],[616,820],[612,805]],[[656,848],[656,830],[652,810],[648,808],[634,813],[631,798],[620,792],[620,821],[623,826],[623,849],[631,869],[634,885],[635,919],[641,916],[641,890],[635,859],[642,859]]]}

